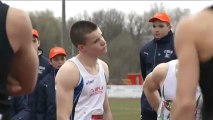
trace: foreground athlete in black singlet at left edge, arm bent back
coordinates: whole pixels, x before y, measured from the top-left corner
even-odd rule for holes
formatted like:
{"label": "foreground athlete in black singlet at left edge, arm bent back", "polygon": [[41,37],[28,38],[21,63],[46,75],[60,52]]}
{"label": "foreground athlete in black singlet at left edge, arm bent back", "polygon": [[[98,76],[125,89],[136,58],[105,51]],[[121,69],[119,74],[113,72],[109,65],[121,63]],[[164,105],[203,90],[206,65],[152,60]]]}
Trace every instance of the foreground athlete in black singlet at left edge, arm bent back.
{"label": "foreground athlete in black singlet at left edge, arm bent back", "polygon": [[38,57],[30,18],[25,12],[0,1],[0,20],[0,120],[10,120],[8,96],[33,91]]}

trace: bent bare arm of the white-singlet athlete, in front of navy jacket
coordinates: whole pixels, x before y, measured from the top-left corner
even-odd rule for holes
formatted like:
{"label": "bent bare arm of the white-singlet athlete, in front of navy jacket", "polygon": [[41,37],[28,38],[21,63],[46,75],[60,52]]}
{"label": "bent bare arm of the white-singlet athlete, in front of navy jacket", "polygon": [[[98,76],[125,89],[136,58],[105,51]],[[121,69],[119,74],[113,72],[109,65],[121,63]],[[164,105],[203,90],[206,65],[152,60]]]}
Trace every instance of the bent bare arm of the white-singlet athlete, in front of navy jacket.
{"label": "bent bare arm of the white-singlet athlete, in front of navy jacket", "polygon": [[165,80],[167,70],[167,63],[159,64],[155,67],[153,72],[147,75],[143,85],[146,98],[155,111],[158,110],[158,107],[160,105],[160,95],[158,90]]}

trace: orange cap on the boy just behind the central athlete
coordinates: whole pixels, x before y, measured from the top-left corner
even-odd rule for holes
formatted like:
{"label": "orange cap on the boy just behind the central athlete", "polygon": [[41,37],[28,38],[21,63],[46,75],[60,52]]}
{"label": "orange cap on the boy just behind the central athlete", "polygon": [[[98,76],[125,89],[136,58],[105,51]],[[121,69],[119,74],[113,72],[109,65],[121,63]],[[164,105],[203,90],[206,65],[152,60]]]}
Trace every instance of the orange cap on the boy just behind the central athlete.
{"label": "orange cap on the boy just behind the central athlete", "polygon": [[65,55],[67,56],[64,48],[62,47],[54,47],[50,49],[49,59],[55,57],[56,55]]}

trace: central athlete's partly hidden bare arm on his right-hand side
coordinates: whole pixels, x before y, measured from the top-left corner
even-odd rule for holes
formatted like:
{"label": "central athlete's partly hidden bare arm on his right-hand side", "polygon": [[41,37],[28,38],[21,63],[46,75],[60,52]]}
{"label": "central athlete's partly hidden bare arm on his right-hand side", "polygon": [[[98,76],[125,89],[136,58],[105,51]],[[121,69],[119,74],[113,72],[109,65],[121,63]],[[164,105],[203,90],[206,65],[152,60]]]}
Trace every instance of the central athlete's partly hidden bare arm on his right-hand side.
{"label": "central athlete's partly hidden bare arm on his right-hand side", "polygon": [[[104,71],[105,71],[105,74],[106,74],[106,79],[107,79],[107,82],[108,82],[108,80],[109,80],[108,65],[103,61],[102,61],[102,63],[103,63]],[[112,120],[112,113],[111,113],[111,109],[110,109],[110,105],[109,105],[107,91],[106,91],[103,107],[104,107],[104,120]]]}

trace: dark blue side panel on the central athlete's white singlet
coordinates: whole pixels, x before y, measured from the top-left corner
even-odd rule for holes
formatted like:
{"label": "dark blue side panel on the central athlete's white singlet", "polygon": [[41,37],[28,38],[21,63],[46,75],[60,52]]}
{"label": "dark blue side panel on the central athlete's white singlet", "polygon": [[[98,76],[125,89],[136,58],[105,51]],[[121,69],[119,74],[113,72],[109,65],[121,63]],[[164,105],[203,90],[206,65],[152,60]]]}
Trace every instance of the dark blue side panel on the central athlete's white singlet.
{"label": "dark blue side panel on the central athlete's white singlet", "polygon": [[81,92],[83,90],[83,87],[84,87],[84,80],[83,80],[83,77],[80,76],[80,81],[79,81],[79,84],[78,86],[74,89],[74,97],[73,97],[73,108],[72,108],[72,114],[70,116],[70,120],[74,120],[74,115],[75,115],[75,107],[78,103],[78,99],[81,95]]}

